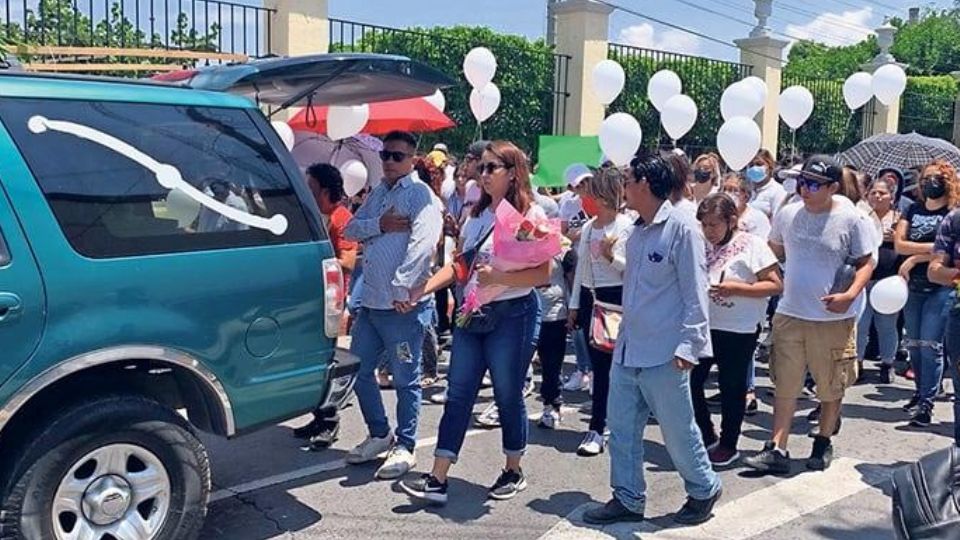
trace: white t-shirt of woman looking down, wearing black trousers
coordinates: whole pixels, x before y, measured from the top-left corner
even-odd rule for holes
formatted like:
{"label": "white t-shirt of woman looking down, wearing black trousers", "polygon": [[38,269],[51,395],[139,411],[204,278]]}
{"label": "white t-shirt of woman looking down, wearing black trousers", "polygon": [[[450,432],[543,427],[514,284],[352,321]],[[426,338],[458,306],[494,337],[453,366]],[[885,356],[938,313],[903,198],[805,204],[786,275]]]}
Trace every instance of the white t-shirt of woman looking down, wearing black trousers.
{"label": "white t-shirt of woman looking down, wearing black trousers", "polygon": [[[710,283],[739,281],[756,283],[757,274],[776,266],[777,256],[759,236],[738,232],[719,248],[707,245]],[[766,298],[710,295],[710,329],[752,334],[767,313]]]}

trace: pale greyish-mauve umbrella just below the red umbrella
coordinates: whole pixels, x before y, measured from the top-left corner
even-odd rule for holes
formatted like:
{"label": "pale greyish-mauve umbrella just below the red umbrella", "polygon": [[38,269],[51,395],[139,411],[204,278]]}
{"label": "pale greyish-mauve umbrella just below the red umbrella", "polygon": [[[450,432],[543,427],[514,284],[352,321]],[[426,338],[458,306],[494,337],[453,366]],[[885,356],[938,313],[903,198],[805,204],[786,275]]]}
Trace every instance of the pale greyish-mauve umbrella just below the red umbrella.
{"label": "pale greyish-mauve umbrella just below the red umbrella", "polygon": [[[339,168],[351,159],[359,160],[367,167],[367,186],[373,187],[383,178],[383,162],[380,161],[380,141],[373,137],[350,137],[332,141],[324,135],[307,131],[294,132],[293,159],[300,171],[314,163],[329,163]],[[372,139],[372,140],[371,140]]]}

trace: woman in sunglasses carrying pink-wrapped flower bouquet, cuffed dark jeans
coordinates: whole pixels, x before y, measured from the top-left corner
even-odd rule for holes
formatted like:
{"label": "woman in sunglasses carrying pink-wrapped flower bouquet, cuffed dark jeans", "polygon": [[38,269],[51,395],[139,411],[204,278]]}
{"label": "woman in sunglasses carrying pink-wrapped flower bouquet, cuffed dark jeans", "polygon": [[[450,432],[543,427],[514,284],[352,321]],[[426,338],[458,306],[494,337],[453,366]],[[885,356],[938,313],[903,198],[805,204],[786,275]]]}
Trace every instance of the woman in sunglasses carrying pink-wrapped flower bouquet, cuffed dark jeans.
{"label": "woman in sunglasses carrying pink-wrapped flower bouquet, cuffed dark jeans", "polygon": [[[523,151],[509,142],[493,142],[483,153],[480,172],[483,194],[463,225],[464,251],[429,280],[425,291],[429,294],[454,282],[458,289],[467,291],[459,302],[458,324],[453,331],[447,402],[433,469],[401,484],[409,495],[439,504],[447,501],[447,473],[460,455],[487,370],[493,380],[506,455],[506,465],[490,487],[489,496],[510,499],[526,489],[520,468],[527,444],[523,386],[540,326],[540,302],[534,288],[549,283],[550,259],[555,253],[536,266],[505,271],[497,269],[503,265],[495,246],[503,244],[507,234],[513,238],[506,240],[514,244],[529,241],[534,246],[555,240],[558,249],[560,246],[559,223],[555,230],[548,229],[546,215],[533,202],[530,169]],[[512,205],[508,210],[516,209],[521,216],[509,233],[502,230],[501,216],[506,206],[501,206],[502,202]],[[463,287],[465,282],[468,285]],[[495,296],[488,298],[491,294]],[[464,303],[470,304],[470,309],[465,309]]]}

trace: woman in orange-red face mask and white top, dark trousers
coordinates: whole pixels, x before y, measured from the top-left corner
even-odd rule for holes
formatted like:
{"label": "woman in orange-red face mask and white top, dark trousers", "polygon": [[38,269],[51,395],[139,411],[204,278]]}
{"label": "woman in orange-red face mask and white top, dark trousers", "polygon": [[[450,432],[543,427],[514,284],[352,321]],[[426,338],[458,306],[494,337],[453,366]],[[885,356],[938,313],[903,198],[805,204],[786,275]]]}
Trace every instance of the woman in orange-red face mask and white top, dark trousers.
{"label": "woman in orange-red face mask and white top, dark trousers", "polygon": [[[586,183],[582,195],[588,205],[596,207],[596,216],[580,232],[577,250],[577,271],[570,295],[568,327],[582,328],[590,335],[597,301],[614,306],[623,304],[623,269],[627,264],[626,240],[633,231],[633,222],[620,213],[623,203],[623,173],[604,168]],[[595,205],[592,203],[596,203]],[[590,428],[577,449],[580,456],[596,456],[603,452],[603,432],[607,428],[607,396],[610,393],[612,351],[601,350],[590,341],[590,362],[593,364],[593,408]]]}

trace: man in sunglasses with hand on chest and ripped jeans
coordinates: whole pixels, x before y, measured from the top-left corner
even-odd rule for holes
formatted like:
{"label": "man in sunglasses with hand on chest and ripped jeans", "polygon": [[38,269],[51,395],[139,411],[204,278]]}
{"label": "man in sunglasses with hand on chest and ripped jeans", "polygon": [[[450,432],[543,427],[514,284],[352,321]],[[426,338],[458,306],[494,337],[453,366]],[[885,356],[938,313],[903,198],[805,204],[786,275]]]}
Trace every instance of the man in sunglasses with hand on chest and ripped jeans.
{"label": "man in sunglasses with hand on chest and ripped jeans", "polygon": [[[416,139],[393,132],[384,139],[383,182],[373,189],[344,235],[363,242],[360,310],[351,332],[351,352],[360,358],[356,393],[369,436],[347,454],[366,463],[390,451],[377,470],[389,480],[406,474],[416,460],[420,416],[423,339],[433,318],[432,297],[423,290],[443,230],[440,201],[413,171]],[[381,355],[390,362],[397,391],[396,439],[390,433],[374,370]]]}

